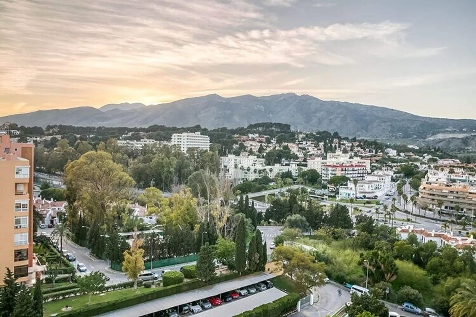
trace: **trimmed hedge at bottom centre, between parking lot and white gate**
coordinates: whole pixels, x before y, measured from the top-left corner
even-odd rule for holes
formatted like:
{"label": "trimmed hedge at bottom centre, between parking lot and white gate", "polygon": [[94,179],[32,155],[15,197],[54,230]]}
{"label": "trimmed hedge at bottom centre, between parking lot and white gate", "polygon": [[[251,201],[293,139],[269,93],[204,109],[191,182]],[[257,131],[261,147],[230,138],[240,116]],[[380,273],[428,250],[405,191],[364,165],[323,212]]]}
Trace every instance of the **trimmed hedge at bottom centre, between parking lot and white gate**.
{"label": "trimmed hedge at bottom centre, between parking lot and white gate", "polygon": [[296,293],[289,293],[285,297],[278,298],[274,302],[255,307],[253,310],[245,311],[234,317],[269,317],[282,316],[296,309],[297,302],[301,296]]}

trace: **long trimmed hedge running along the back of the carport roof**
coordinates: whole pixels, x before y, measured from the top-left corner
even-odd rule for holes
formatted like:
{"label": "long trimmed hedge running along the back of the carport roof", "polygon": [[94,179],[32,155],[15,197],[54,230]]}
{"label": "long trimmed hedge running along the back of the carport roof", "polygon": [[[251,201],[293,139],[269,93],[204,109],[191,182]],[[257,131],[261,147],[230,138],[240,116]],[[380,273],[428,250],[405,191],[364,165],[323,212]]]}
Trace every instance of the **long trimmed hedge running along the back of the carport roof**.
{"label": "long trimmed hedge running along the back of the carport roof", "polygon": [[94,303],[91,305],[79,307],[69,312],[60,312],[57,317],[89,317],[104,314],[116,309],[121,309],[141,303],[148,302],[157,298],[167,297],[170,295],[186,292],[189,290],[197,289],[211,284],[221,283],[230,279],[238,278],[239,275],[236,272],[221,275],[215,277],[210,283],[206,284],[202,281],[195,279],[188,283],[172,285],[169,287],[157,287],[155,291],[147,294],[134,294],[131,292],[131,296],[128,298],[122,297],[119,299],[111,300],[107,303]]}

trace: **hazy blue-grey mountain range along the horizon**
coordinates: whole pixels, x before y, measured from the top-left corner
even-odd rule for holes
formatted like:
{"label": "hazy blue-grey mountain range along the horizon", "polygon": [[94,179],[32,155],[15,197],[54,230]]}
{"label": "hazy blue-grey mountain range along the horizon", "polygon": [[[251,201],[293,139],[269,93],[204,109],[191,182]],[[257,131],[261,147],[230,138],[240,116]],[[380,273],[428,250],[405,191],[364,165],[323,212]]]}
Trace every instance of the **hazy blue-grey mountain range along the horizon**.
{"label": "hazy blue-grey mountain range along the horizon", "polygon": [[258,122],[288,123],[293,129],[337,131],[364,138],[427,138],[448,130],[472,131],[474,119],[444,119],[342,101],[325,101],[309,95],[285,93],[224,98],[217,94],[145,106],[141,103],[108,104],[99,109],[79,107],[40,110],[0,118],[24,126],[74,125],[147,127],[167,125],[206,128],[246,127]]}

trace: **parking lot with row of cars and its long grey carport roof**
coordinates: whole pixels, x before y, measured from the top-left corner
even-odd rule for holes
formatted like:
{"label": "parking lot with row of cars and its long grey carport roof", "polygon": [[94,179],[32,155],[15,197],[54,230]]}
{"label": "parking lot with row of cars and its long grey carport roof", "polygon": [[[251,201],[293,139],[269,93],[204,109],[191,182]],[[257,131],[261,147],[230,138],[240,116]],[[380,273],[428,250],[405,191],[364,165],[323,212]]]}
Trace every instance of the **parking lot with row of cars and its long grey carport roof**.
{"label": "parking lot with row of cars and its long grey carport roof", "polygon": [[[193,315],[200,316],[232,316],[286,295],[284,292],[275,290],[272,285],[270,285],[270,288],[265,286],[263,287],[262,291],[258,291],[256,287],[257,284],[265,282],[272,277],[273,276],[267,273],[260,272],[245,277],[238,277],[236,279],[219,284],[201,287],[188,292],[159,298],[132,307],[119,309],[100,316],[178,317],[191,316],[192,313],[190,311],[194,311]],[[248,295],[249,293],[252,294]],[[225,300],[227,294],[233,297],[228,301],[228,303],[226,303]],[[210,297],[216,297],[216,299],[220,299],[221,303],[214,302],[213,299],[209,301],[206,300]],[[188,307],[188,312],[186,313],[182,313],[181,308],[184,305]],[[178,312],[181,314],[178,315]]]}

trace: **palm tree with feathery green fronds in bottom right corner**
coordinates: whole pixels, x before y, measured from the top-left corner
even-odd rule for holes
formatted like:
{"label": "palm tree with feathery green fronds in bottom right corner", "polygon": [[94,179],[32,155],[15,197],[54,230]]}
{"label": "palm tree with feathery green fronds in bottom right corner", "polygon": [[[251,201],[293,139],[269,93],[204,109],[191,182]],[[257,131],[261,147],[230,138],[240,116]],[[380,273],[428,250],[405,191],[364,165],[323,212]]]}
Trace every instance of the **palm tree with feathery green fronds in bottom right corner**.
{"label": "palm tree with feathery green fronds in bottom right corner", "polygon": [[451,317],[476,316],[476,280],[467,279],[450,299]]}

